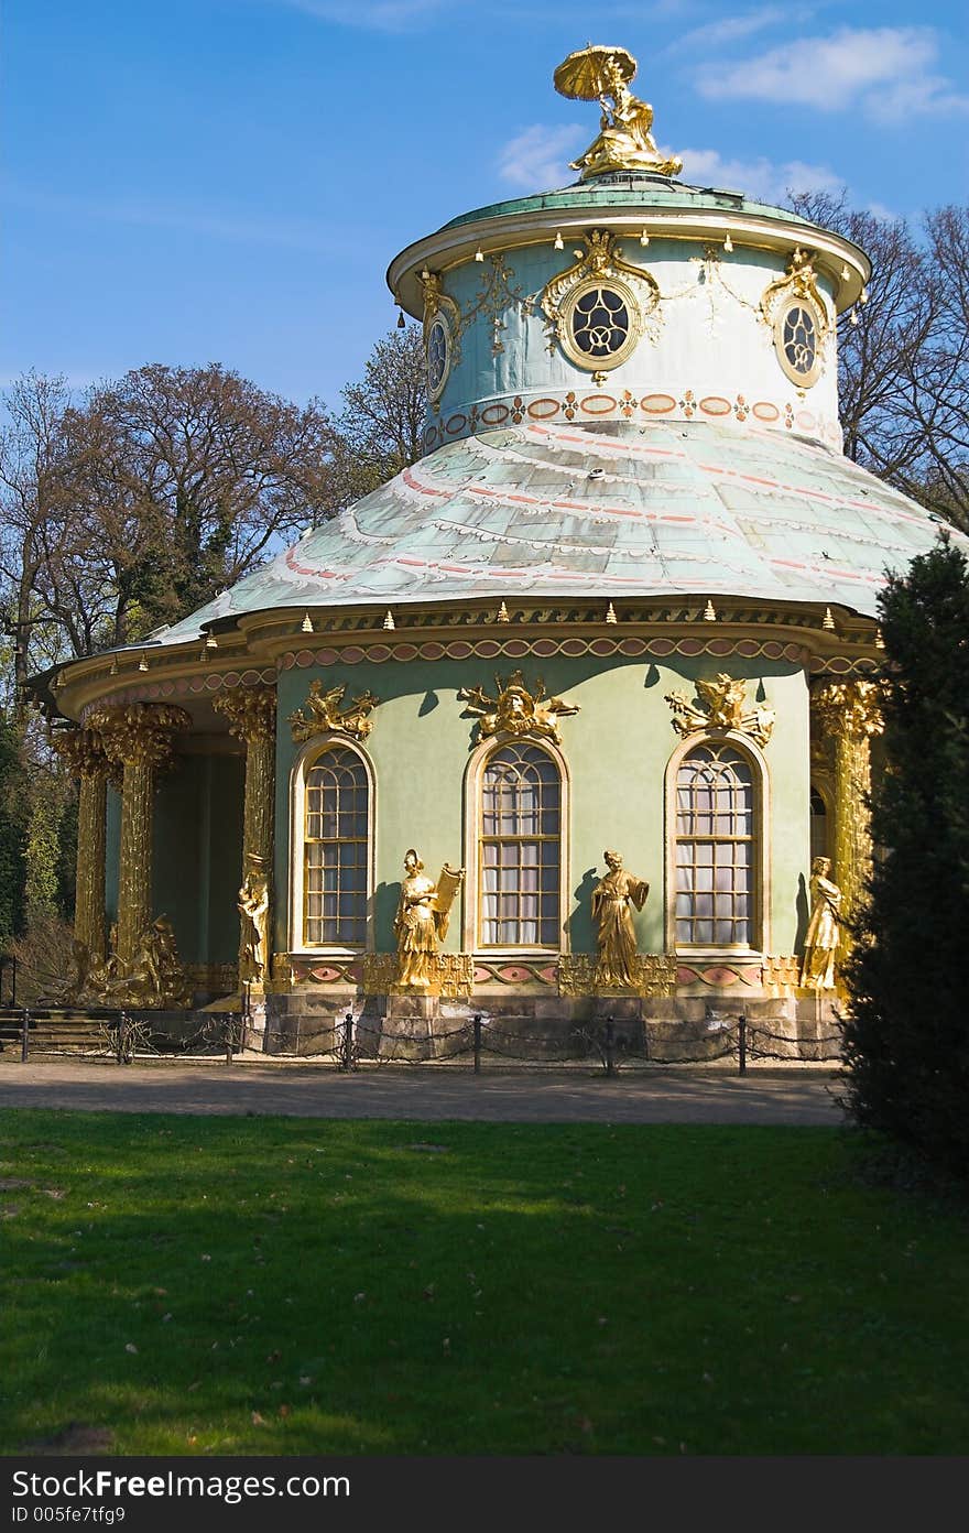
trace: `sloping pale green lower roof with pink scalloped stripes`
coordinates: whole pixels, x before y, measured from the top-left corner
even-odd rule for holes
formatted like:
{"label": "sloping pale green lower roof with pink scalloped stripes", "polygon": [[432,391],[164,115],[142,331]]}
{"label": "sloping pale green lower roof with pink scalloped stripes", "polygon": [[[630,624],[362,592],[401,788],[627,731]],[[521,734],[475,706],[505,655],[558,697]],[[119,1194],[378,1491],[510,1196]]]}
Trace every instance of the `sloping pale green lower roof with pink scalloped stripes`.
{"label": "sloping pale green lower roof with pink scalloped stripes", "polygon": [[524,422],[439,448],[153,641],[276,607],[524,596],[719,595],[875,616],[886,567],[937,530],[856,463],[776,431]]}

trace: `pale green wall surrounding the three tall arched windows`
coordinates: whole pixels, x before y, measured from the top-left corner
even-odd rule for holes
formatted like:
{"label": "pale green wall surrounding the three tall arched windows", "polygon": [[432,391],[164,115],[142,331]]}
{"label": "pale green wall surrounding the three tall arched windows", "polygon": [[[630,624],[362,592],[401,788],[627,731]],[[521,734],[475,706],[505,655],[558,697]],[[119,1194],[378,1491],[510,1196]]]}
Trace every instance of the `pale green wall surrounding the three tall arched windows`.
{"label": "pale green wall surrounding the three tall arched windows", "polygon": [[[376,774],[376,946],[393,950],[391,923],[400,889],[403,852],[417,846],[434,877],[443,862],[465,858],[463,782],[474,724],[462,717],[458,687],[483,685],[494,696],[495,670],[507,676],[514,662],[414,661],[383,665],[294,670],[279,678],[279,719],[285,721],[307,698],[310,682],[347,684],[345,702],[370,687],[380,698],[371,714],[373,733],[365,750]],[[645,909],[636,918],[644,952],[664,949],[664,774],[679,736],[664,702],[668,691],[685,691],[696,676],[721,668],[748,679],[748,699],[762,685],[777,713],[774,734],[764,756],[773,800],[773,900],[770,950],[790,954],[799,923],[800,880],[808,875],[808,691],[803,671],[777,661],[711,661],[710,656],[650,664],[642,659],[563,658],[524,662],[526,685],[538,676],[546,688],[580,705],[561,721],[563,753],[572,785],[570,809],[570,946],[592,952],[595,938],[589,911],[592,883],[606,871],[603,851],[615,846],[627,868],[650,883]],[[290,771],[301,747],[281,722],[278,737],[276,834],[276,946],[288,947],[288,793]],[[460,947],[462,923],[451,923],[446,947]]]}

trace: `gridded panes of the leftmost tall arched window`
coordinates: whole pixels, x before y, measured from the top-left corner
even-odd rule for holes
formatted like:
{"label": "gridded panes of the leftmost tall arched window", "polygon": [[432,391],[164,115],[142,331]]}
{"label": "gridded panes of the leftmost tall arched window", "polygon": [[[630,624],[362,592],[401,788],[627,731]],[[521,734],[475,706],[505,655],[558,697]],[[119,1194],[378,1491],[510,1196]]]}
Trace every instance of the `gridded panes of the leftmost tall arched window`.
{"label": "gridded panes of the leftmost tall arched window", "polygon": [[304,941],[362,947],[366,938],[370,788],[360,757],[345,745],[307,771]]}

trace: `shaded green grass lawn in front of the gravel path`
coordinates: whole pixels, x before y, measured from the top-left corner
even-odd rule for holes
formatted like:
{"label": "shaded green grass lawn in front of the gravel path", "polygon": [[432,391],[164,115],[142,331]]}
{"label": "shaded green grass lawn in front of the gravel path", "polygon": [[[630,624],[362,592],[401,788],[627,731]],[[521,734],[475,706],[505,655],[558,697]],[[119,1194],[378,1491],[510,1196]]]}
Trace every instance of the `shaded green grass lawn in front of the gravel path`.
{"label": "shaded green grass lawn in front of the gravel path", "polygon": [[837,1128],[0,1113],[0,1452],[969,1452],[969,1222]]}

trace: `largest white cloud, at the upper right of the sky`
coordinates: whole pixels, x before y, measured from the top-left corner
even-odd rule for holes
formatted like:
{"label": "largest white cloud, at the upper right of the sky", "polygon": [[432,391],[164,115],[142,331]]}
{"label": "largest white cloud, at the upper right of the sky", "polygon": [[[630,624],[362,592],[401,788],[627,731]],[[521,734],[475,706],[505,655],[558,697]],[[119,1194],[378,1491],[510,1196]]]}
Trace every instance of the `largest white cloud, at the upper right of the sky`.
{"label": "largest white cloud, at the upper right of the sky", "polygon": [[969,97],[931,72],[937,57],[931,28],[843,26],[829,37],[802,37],[756,58],[702,64],[698,87],[711,98],[780,101],[822,112],[860,103],[879,121],[969,110]]}

